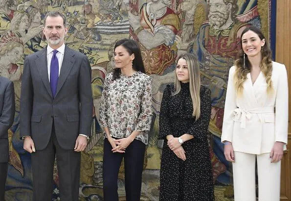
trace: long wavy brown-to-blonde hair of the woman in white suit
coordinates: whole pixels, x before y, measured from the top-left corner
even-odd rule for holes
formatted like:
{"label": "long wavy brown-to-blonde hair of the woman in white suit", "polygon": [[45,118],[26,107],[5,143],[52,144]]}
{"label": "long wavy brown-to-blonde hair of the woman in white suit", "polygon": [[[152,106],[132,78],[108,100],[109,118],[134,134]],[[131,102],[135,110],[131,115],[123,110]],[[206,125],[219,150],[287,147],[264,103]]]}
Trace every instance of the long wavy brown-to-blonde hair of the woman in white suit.
{"label": "long wavy brown-to-blonde hair of the woman in white suit", "polygon": [[[248,26],[245,28],[245,30],[243,30],[241,34],[241,40],[242,40],[243,35],[247,31],[253,31],[256,34],[258,34],[261,40],[263,39],[266,40],[262,31],[253,25]],[[241,43],[241,48],[242,48],[242,43]],[[272,80],[271,80],[273,67],[272,67],[271,50],[270,50],[269,43],[267,40],[265,42],[265,45],[262,47],[261,52],[262,52],[262,61],[260,63],[260,68],[261,68],[262,73],[266,77],[266,82],[268,85],[267,93],[268,95],[270,95],[273,92],[273,85],[272,85]],[[243,89],[244,89],[243,84],[246,81],[246,75],[250,73],[250,66],[251,66],[246,55],[245,55],[245,66],[244,66],[244,54],[245,54],[244,50],[241,49],[237,55],[237,59],[234,62],[234,65],[236,66],[235,73],[234,73],[234,86],[235,86],[236,93],[239,96],[242,95],[243,93]]]}

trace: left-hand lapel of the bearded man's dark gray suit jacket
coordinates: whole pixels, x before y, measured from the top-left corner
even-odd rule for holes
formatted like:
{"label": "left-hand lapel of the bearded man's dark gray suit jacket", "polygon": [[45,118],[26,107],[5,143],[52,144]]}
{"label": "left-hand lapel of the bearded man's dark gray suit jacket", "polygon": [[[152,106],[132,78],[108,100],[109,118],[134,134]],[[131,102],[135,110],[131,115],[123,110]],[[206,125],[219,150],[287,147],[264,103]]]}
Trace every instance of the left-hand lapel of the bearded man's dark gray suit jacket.
{"label": "left-hand lapel of the bearded man's dark gray suit jacket", "polygon": [[52,97],[49,81],[48,81],[48,73],[47,73],[47,61],[46,61],[46,48],[41,50],[41,54],[36,59],[35,63],[37,65],[37,69],[39,71],[39,74],[41,76],[41,79],[43,80],[45,84],[45,88],[49,95]]}

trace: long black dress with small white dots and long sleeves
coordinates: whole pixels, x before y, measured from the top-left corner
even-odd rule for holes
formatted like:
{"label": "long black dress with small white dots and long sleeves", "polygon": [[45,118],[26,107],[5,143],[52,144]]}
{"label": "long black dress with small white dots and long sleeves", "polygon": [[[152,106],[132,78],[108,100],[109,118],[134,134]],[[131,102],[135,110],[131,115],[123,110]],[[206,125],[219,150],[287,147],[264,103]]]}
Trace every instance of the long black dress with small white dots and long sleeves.
{"label": "long black dress with small white dots and long sleeves", "polygon": [[[172,96],[174,85],[164,91],[159,116],[159,139],[164,139],[160,167],[160,201],[213,201],[213,181],[206,131],[211,114],[210,90],[201,86],[201,116],[195,122],[189,83]],[[194,139],[182,144],[182,161],[167,145],[166,136],[191,134]]]}

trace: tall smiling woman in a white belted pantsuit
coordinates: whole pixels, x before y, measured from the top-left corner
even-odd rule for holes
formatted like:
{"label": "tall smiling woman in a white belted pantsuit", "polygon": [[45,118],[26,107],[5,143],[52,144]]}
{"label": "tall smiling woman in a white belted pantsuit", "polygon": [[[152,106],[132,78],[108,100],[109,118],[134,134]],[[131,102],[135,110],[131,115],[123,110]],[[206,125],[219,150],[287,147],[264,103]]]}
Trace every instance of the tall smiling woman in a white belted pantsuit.
{"label": "tall smiling woman in a white belted pantsuit", "polygon": [[242,51],[229,70],[222,142],[232,162],[235,201],[280,200],[280,171],[288,138],[288,83],[283,64],[271,60],[261,30],[247,27]]}

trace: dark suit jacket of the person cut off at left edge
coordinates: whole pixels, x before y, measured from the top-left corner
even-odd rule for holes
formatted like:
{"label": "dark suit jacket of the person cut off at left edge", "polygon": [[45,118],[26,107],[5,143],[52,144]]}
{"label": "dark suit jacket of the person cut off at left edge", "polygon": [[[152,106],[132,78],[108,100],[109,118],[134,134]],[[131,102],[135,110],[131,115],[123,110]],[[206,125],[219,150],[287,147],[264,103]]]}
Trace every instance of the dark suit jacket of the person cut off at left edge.
{"label": "dark suit jacket of the person cut off at left edge", "polygon": [[0,163],[8,162],[8,129],[15,114],[14,86],[6,77],[0,76]]}

